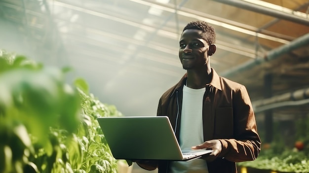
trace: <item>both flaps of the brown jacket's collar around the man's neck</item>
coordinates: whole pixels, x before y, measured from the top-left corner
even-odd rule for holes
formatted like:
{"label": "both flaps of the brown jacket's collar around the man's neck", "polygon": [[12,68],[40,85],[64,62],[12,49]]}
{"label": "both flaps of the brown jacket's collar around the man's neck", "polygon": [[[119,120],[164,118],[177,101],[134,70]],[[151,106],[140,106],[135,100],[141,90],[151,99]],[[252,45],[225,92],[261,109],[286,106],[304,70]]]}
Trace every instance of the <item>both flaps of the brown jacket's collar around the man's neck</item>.
{"label": "both flaps of the brown jacket's collar around the man's neck", "polygon": [[[218,90],[222,91],[222,87],[221,87],[221,83],[220,83],[220,76],[218,75],[218,73],[213,68],[211,68],[211,71],[212,71],[212,73],[211,73],[212,74],[212,79],[211,79],[210,83],[207,84],[207,85],[213,86],[213,87],[217,88]],[[172,95],[176,91],[182,91],[182,88],[183,88],[183,86],[186,83],[187,77],[188,77],[188,74],[186,73],[180,79],[180,81],[176,84],[175,90],[173,91]]]}

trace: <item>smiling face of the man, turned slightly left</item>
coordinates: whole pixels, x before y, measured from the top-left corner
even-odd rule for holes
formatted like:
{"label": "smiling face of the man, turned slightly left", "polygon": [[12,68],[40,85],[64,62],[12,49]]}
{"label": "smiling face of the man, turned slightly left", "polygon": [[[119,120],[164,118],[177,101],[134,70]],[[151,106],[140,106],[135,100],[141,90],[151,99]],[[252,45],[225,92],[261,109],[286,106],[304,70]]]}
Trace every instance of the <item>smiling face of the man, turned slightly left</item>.
{"label": "smiling face of the man, turned slightly left", "polygon": [[199,69],[208,61],[208,43],[201,36],[202,31],[185,30],[179,41],[179,59],[184,69]]}

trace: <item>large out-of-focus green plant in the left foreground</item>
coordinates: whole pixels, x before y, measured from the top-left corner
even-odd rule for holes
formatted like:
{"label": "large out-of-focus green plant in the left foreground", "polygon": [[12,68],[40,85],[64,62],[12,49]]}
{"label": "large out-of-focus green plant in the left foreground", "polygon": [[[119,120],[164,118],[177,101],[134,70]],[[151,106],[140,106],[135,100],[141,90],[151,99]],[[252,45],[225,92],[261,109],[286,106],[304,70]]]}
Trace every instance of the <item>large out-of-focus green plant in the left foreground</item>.
{"label": "large out-of-focus green plant in the left foreground", "polygon": [[4,51],[0,55],[0,172],[37,171],[30,159],[37,146],[52,155],[50,128],[77,132],[78,93],[64,82],[61,69]]}

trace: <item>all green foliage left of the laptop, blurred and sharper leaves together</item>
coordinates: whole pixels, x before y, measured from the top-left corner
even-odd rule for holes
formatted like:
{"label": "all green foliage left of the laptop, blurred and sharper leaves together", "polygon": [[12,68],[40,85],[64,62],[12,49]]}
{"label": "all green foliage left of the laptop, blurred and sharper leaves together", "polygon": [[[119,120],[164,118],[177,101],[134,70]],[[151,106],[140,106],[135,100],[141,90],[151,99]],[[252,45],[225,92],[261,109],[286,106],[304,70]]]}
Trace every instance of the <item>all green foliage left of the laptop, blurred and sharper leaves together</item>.
{"label": "all green foliage left of the laptop, blurred and sharper leaves together", "polygon": [[115,173],[96,120],[122,116],[65,69],[0,51],[0,173]]}

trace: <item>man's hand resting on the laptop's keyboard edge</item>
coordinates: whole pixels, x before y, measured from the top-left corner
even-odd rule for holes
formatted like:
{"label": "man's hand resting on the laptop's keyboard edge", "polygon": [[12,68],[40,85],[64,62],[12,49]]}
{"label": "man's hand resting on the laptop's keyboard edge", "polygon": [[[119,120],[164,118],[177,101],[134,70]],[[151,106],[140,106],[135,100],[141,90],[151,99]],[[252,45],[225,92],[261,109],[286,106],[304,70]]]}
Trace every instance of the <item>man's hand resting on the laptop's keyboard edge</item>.
{"label": "man's hand resting on the laptop's keyboard edge", "polygon": [[197,146],[193,146],[191,147],[192,149],[211,149],[213,150],[209,156],[213,156],[213,157],[209,157],[209,159],[207,160],[214,160],[216,157],[218,157],[218,155],[221,153],[222,151],[222,144],[220,142],[220,140],[218,139],[213,139],[213,140],[207,140],[204,143],[197,145]]}

